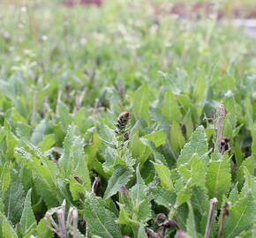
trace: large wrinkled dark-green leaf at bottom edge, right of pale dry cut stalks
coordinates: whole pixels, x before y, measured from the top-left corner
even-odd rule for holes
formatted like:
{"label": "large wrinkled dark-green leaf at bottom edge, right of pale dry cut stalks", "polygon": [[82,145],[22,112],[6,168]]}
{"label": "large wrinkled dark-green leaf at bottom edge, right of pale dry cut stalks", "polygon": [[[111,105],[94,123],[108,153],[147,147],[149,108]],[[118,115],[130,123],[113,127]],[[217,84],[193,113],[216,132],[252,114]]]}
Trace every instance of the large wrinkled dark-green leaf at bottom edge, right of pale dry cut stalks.
{"label": "large wrinkled dark-green leaf at bottom edge, right of pale dry cut stalks", "polygon": [[121,230],[116,223],[117,217],[107,210],[100,197],[86,192],[84,216],[89,232],[104,238],[120,238]]}

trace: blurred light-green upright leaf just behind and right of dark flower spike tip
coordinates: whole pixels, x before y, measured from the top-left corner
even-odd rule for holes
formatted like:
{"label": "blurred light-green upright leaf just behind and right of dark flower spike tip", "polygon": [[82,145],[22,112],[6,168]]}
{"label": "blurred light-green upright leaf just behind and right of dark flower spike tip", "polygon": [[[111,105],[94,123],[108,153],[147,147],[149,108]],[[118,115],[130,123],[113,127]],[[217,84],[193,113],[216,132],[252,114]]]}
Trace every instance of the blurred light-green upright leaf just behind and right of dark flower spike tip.
{"label": "blurred light-green upright leaf just behind and right of dark flower spike tip", "polygon": [[133,111],[137,116],[142,117],[147,122],[149,121],[149,101],[150,93],[148,86],[140,86],[134,95]]}

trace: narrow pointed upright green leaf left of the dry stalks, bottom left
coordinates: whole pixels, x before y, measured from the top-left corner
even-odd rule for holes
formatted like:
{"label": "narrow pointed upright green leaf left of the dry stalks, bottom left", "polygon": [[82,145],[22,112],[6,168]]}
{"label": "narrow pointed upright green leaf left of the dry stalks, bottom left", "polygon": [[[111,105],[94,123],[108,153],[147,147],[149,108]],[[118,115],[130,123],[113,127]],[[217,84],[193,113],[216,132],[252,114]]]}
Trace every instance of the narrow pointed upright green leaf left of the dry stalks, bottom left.
{"label": "narrow pointed upright green leaf left of the dry stalks, bottom left", "polygon": [[31,189],[26,194],[23,212],[20,219],[20,230],[22,235],[25,236],[36,227],[36,220],[34,212],[31,207]]}

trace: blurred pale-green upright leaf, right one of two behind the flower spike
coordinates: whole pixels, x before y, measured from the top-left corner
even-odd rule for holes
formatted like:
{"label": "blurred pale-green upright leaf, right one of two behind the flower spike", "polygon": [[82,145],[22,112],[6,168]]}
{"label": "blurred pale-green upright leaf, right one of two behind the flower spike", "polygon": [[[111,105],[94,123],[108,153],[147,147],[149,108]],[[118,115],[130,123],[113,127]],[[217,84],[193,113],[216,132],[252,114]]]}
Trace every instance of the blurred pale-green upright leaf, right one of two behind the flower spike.
{"label": "blurred pale-green upright leaf, right one of two behind the flower spike", "polygon": [[165,93],[165,99],[162,104],[162,114],[166,116],[169,122],[180,122],[182,119],[175,94],[170,90]]}

